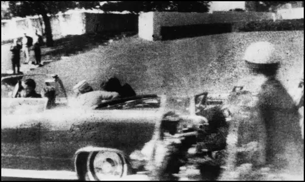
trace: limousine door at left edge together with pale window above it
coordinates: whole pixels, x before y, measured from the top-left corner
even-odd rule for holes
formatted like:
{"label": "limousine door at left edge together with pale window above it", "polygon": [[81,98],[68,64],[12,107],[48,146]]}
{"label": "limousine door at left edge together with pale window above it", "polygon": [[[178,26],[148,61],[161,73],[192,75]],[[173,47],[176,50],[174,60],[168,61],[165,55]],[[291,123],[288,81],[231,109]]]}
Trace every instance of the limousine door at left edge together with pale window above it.
{"label": "limousine door at left edge together with pale window above it", "polygon": [[45,98],[1,99],[1,167],[40,170]]}

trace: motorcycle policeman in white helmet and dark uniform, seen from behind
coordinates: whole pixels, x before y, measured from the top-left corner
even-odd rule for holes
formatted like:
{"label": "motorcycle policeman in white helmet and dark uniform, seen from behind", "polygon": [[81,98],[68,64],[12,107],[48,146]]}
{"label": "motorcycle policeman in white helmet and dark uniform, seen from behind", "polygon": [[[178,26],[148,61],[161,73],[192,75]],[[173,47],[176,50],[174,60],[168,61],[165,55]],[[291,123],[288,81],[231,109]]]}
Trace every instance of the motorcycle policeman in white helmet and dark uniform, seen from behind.
{"label": "motorcycle policeman in white helmet and dark uniform, seen from behind", "polygon": [[257,93],[257,119],[263,121],[267,130],[264,145],[267,163],[303,169],[304,143],[300,140],[299,114],[292,97],[276,79],[279,59],[271,43],[251,44],[244,56],[251,74],[239,81],[238,86]]}

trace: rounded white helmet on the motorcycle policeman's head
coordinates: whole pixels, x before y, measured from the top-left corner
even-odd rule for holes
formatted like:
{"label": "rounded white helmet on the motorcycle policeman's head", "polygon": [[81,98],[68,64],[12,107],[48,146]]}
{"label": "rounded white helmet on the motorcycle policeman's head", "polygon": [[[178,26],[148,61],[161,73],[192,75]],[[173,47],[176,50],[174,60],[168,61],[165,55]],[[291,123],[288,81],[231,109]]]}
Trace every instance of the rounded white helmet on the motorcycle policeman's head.
{"label": "rounded white helmet on the motorcycle policeman's head", "polygon": [[244,60],[254,64],[274,64],[279,62],[275,47],[269,42],[252,43],[245,52]]}

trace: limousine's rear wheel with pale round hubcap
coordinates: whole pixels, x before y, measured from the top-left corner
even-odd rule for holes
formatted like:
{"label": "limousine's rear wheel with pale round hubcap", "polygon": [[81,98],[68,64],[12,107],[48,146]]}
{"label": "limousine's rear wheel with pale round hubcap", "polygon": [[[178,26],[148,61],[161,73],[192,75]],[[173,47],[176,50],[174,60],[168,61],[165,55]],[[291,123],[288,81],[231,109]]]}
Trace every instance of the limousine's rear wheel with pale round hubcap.
{"label": "limousine's rear wheel with pale round hubcap", "polygon": [[112,151],[92,152],[88,157],[86,180],[117,179],[124,174],[124,159]]}

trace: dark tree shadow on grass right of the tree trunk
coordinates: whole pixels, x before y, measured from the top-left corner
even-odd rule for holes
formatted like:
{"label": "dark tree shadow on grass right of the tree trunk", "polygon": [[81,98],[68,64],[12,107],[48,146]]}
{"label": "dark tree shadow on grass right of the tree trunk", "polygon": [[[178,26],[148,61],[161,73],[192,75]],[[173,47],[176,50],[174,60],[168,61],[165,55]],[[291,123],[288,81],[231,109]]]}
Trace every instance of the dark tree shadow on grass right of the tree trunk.
{"label": "dark tree shadow on grass right of the tree trunk", "polygon": [[94,49],[99,45],[106,46],[109,39],[119,40],[124,36],[135,34],[134,32],[102,32],[99,34],[68,35],[55,40],[54,47],[45,47],[42,56],[58,59],[61,56],[70,56]]}

